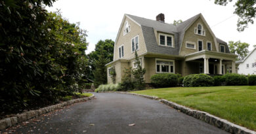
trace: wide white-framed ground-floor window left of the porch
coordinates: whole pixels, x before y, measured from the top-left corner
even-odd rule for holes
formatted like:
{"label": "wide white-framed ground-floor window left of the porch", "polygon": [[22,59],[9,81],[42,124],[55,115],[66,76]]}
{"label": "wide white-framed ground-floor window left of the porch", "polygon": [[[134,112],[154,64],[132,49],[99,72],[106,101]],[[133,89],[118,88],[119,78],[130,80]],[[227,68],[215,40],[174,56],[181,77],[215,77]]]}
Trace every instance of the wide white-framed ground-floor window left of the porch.
{"label": "wide white-framed ground-floor window left of the porch", "polygon": [[156,73],[175,73],[174,60],[156,59]]}

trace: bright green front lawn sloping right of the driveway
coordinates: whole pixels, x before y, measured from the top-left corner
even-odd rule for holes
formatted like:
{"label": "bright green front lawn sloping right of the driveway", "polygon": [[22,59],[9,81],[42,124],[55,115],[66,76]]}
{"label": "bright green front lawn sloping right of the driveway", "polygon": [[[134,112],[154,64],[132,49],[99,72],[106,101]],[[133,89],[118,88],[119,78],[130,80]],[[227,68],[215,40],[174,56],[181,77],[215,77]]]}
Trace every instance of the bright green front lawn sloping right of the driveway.
{"label": "bright green front lawn sloping right of the driveway", "polygon": [[256,86],[160,88],[133,93],[167,99],[256,130]]}

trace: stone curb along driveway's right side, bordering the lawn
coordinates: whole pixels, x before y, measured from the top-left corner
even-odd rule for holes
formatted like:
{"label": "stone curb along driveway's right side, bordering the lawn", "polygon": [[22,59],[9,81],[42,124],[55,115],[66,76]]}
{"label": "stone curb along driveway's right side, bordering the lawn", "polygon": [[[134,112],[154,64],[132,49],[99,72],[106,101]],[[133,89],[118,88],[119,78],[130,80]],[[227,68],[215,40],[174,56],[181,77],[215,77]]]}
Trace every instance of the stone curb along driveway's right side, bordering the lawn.
{"label": "stone curb along driveway's right side, bordering the lawn", "polygon": [[250,129],[247,129],[246,127],[238,126],[236,124],[233,124],[232,122],[228,122],[227,120],[224,120],[217,116],[213,116],[212,114],[209,114],[208,112],[203,112],[201,110],[189,109],[188,107],[184,107],[177,103],[173,103],[172,101],[167,101],[166,99],[159,99],[158,97],[153,97],[153,96],[149,96],[149,95],[140,95],[137,93],[129,93],[129,92],[106,92],[106,93],[125,93],[125,94],[146,97],[148,99],[156,99],[156,100],[159,100],[161,103],[168,105],[169,107],[173,107],[173,109],[177,109],[177,110],[183,112],[184,114],[193,116],[194,118],[196,118],[198,120],[202,120],[203,122],[206,122],[207,124],[211,124],[215,127],[219,127],[220,129],[223,129],[224,131],[227,131],[228,133],[256,134],[256,131],[252,131]]}

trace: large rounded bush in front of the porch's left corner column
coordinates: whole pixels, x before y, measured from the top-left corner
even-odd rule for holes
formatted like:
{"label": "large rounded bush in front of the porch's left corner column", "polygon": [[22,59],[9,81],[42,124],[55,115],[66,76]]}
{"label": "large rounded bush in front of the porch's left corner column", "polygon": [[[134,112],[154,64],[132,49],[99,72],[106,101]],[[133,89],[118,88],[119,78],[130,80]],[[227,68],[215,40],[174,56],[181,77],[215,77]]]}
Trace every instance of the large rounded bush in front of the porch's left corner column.
{"label": "large rounded bush in front of the porch's left corner column", "polygon": [[188,75],[185,76],[184,86],[213,86],[214,79],[213,77],[205,74],[195,74],[195,75]]}

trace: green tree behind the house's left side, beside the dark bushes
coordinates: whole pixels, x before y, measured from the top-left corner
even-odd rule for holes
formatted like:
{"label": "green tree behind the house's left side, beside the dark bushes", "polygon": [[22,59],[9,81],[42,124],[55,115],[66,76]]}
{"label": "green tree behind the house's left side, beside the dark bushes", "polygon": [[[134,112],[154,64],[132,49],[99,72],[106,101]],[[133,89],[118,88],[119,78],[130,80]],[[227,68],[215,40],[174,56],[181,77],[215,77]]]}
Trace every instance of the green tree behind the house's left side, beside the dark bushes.
{"label": "green tree behind the house's left side, beside the dark bushes", "polygon": [[89,54],[87,54],[87,57],[89,59],[89,67],[91,72],[89,74],[90,79],[95,79],[93,76],[93,71],[95,71],[95,61],[99,59],[99,56],[103,56],[108,61],[113,61],[114,56],[114,44],[115,42],[111,39],[106,39],[105,41],[98,41],[95,45],[95,50]]}

